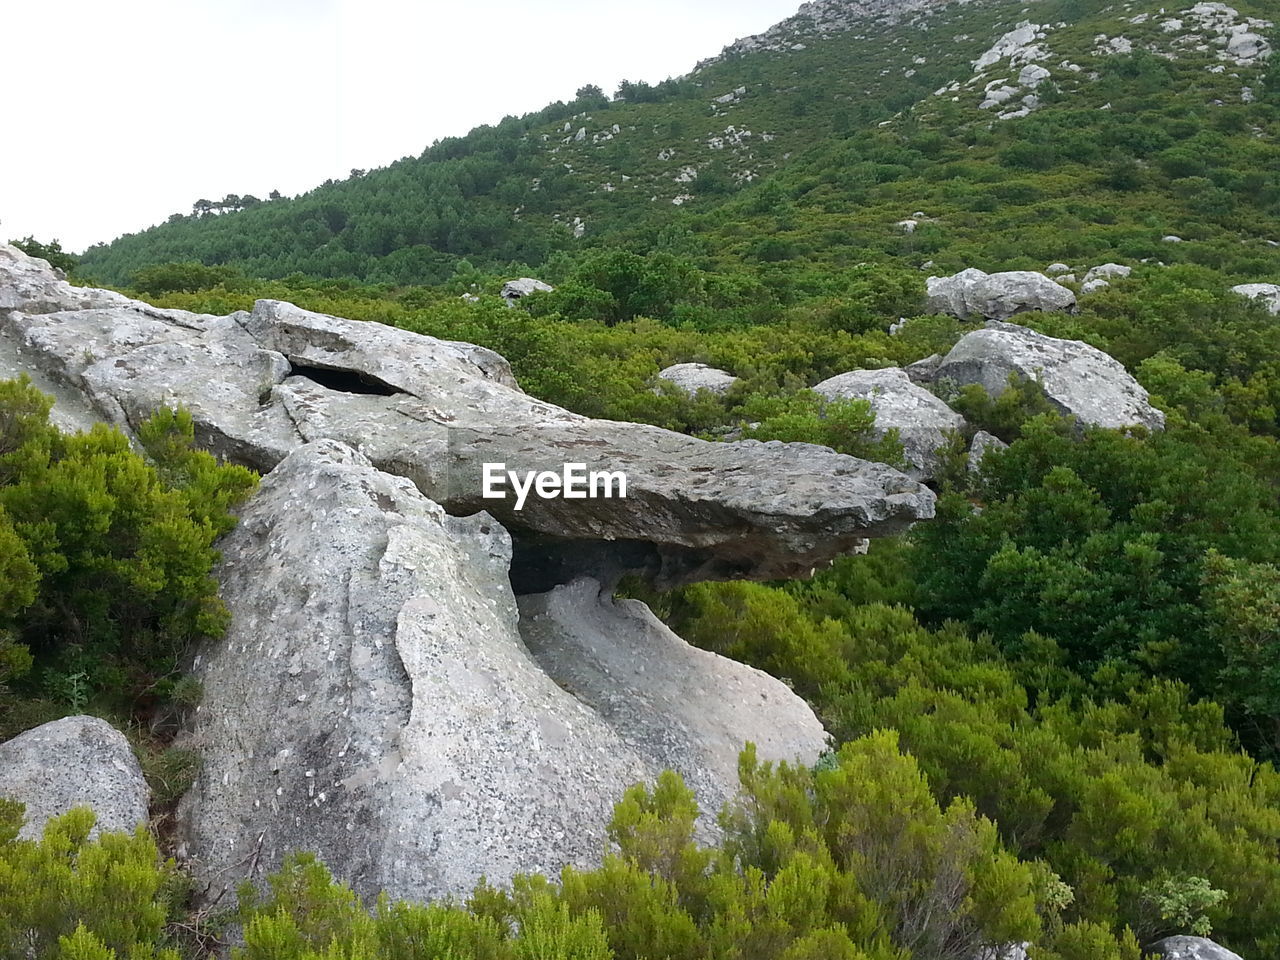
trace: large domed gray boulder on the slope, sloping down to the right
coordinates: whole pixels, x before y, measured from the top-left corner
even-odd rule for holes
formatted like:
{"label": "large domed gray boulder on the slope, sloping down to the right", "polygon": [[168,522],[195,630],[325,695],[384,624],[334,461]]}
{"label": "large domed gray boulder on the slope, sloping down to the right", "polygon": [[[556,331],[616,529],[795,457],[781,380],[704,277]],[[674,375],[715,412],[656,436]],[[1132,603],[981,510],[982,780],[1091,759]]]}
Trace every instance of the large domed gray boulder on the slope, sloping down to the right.
{"label": "large domed gray boulder on the slope, sloping down to the right", "polygon": [[1149,430],[1165,425],[1165,415],[1151,406],[1147,392],[1114,357],[1087,343],[1046,337],[1016,324],[993,323],[961,337],[942,360],[934,383],[979,384],[998,397],[1007,389],[1010,374],[1039,380],[1050,403],[1082,424]]}

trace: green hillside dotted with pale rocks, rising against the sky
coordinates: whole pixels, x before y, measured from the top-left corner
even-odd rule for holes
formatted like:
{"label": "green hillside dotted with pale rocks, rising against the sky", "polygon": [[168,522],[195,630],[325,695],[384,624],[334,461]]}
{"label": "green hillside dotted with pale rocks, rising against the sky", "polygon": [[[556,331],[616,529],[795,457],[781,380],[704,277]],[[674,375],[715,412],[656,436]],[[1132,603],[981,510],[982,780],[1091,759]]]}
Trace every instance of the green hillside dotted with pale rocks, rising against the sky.
{"label": "green hillside dotted with pale rocks, rising against the sky", "polygon": [[115,284],[170,261],[392,284],[472,268],[554,279],[621,243],[765,280],[867,260],[1087,256],[1274,274],[1266,5],[1184,3],[809,5],[686,77],[612,100],[584,87],[296,198],[175,214],[92,247],[81,269]]}

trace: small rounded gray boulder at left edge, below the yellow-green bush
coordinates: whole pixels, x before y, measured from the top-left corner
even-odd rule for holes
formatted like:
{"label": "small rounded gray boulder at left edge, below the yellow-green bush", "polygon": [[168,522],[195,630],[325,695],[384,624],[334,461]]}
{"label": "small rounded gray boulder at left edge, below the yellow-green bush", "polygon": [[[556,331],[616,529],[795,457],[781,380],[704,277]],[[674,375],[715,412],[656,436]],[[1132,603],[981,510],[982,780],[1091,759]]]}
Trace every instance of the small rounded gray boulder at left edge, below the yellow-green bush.
{"label": "small rounded gray boulder at left edge, below the yellow-green bush", "polygon": [[151,801],[129,741],[97,717],[64,717],[0,744],[0,796],[27,805],[24,840],[77,806],[97,815],[91,836],[132,833]]}

